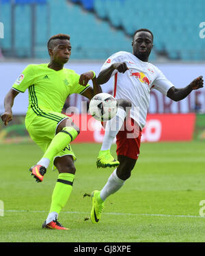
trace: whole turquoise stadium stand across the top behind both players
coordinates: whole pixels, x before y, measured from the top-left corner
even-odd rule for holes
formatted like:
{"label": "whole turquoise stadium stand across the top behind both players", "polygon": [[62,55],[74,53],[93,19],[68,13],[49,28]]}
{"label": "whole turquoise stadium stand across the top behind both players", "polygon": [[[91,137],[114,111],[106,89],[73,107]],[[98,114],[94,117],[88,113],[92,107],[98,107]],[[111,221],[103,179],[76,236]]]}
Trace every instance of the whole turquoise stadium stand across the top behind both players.
{"label": "whole turquoise stadium stand across the top behind both players", "polygon": [[116,51],[131,51],[134,31],[146,27],[154,34],[150,60],[161,56],[184,61],[205,59],[204,40],[199,36],[204,0],[14,2],[12,9],[10,0],[0,0],[0,21],[6,35],[0,47],[5,57],[46,59],[48,38],[61,32],[70,34],[72,59],[105,60]]}

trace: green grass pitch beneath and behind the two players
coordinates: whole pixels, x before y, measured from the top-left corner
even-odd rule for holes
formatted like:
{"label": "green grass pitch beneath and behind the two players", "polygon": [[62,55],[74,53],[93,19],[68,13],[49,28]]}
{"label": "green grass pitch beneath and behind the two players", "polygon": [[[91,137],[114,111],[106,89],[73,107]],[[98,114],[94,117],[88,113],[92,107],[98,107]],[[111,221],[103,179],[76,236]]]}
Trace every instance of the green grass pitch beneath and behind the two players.
{"label": "green grass pitch beneath and behind the two players", "polygon": [[[42,156],[36,144],[0,145],[0,242],[205,242],[204,142],[142,143],[124,186],[105,202],[98,225],[90,221],[91,199],[113,168],[97,169],[100,144],[72,144],[77,172],[70,199],[59,215],[68,231],[41,228],[51,203],[57,171],[36,183],[29,167]],[[112,146],[115,155],[115,146]]]}

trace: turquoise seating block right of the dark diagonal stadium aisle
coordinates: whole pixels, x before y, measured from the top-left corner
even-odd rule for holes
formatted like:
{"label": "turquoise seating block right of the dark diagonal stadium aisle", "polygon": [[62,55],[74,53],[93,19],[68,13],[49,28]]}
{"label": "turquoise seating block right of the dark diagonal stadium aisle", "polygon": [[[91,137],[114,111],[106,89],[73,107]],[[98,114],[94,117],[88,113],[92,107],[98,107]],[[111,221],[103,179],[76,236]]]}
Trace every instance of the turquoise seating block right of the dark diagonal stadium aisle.
{"label": "turquoise seating block right of the dark diagonal stadium aisle", "polygon": [[[86,8],[85,0],[71,0]],[[94,0],[89,10],[132,36],[137,28],[153,31],[156,53],[171,60],[205,59],[199,25],[204,21],[204,0]]]}

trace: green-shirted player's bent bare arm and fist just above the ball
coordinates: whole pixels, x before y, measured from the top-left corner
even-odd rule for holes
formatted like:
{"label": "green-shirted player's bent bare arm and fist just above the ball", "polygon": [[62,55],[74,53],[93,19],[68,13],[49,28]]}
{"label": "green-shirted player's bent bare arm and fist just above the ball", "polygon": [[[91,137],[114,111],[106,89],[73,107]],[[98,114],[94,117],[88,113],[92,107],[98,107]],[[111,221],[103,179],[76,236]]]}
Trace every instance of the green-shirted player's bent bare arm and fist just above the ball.
{"label": "green-shirted player's bent bare arm and fist just above the ball", "polygon": [[81,93],[81,95],[83,95],[87,99],[92,99],[94,95],[102,92],[102,89],[97,82],[96,74],[93,71],[88,71],[81,74],[79,78],[79,84],[81,84],[81,86],[87,86],[87,83],[90,79],[92,79],[93,88],[90,86],[89,88],[87,88],[87,90],[85,90],[85,92]]}

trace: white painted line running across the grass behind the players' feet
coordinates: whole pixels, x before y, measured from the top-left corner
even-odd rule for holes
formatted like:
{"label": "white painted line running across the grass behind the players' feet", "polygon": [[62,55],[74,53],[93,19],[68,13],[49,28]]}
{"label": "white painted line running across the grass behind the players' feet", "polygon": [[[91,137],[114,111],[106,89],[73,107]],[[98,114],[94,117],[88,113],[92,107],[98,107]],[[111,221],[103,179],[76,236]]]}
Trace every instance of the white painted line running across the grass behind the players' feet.
{"label": "white painted line running across the grass behind the players' feet", "polygon": [[[46,213],[47,211],[35,211],[26,209],[8,209],[5,212],[31,212],[31,213]],[[64,214],[90,214],[90,212],[61,212]],[[169,215],[169,214],[126,214],[120,212],[105,212],[106,215],[125,215],[125,216],[148,216],[148,217],[174,217],[174,218],[205,218],[205,216],[195,216],[195,215]]]}

